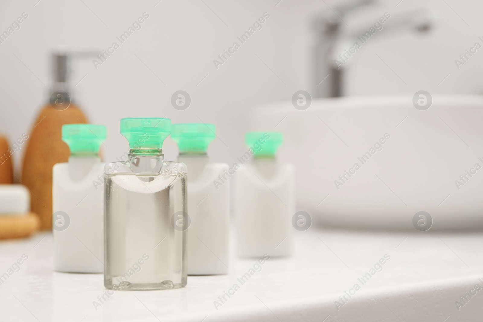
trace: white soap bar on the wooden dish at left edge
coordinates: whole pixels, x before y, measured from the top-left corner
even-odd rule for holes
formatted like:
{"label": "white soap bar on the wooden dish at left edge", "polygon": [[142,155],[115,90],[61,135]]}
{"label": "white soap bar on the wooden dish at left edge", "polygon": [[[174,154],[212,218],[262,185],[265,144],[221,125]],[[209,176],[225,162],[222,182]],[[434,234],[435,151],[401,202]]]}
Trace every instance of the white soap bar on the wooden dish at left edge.
{"label": "white soap bar on the wooden dish at left edge", "polygon": [[24,215],[30,209],[30,194],[22,184],[0,184],[0,215]]}

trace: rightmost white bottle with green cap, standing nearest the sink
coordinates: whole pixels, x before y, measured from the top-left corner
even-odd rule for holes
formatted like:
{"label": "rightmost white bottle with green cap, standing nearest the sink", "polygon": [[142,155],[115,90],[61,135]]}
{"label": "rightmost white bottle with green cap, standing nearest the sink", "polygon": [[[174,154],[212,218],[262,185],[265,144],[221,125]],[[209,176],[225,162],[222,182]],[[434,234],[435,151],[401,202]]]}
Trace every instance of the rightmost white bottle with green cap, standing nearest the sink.
{"label": "rightmost white bottle with green cap, standing nearest the sink", "polygon": [[245,143],[249,150],[234,178],[238,255],[290,255],[295,180],[293,166],[275,157],[282,134],[248,132]]}

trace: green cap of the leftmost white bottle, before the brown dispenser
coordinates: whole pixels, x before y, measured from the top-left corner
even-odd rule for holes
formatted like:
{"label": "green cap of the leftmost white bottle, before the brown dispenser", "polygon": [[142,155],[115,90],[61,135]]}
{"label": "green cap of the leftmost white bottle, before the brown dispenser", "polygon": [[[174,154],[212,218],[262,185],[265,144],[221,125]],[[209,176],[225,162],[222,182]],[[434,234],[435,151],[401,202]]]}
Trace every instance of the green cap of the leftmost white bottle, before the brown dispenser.
{"label": "green cap of the leftmost white bottle, before the brown dispenser", "polygon": [[71,155],[97,155],[102,141],[106,140],[106,127],[96,124],[65,124],[62,141],[71,149]]}

